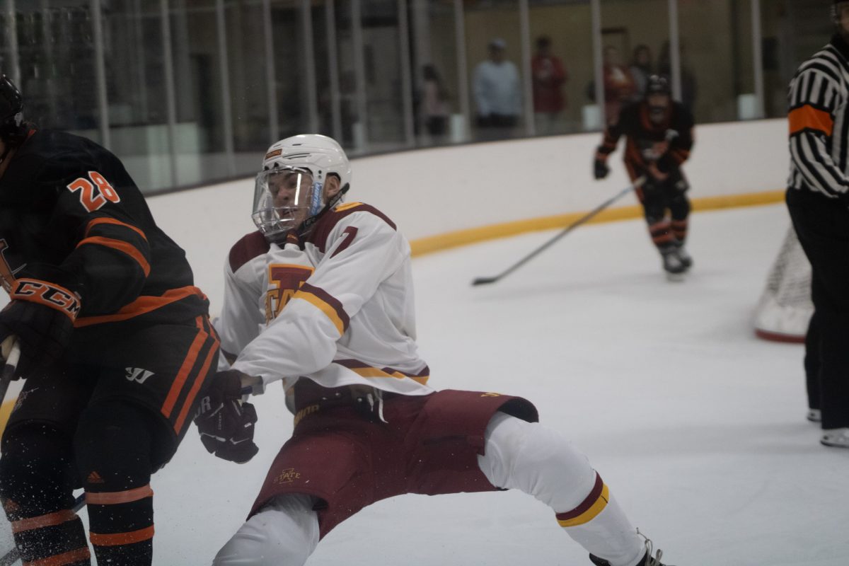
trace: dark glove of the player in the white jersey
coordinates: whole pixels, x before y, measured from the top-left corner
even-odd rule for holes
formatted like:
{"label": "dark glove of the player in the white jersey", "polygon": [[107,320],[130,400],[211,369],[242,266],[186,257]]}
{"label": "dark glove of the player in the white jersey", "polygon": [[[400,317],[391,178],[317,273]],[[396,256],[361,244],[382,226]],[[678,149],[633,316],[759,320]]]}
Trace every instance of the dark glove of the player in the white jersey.
{"label": "dark glove of the player in the white jersey", "polygon": [[238,464],[248,462],[260,450],[254,444],[256,409],[242,402],[243,375],[233,369],[216,373],[194,417],[206,450]]}

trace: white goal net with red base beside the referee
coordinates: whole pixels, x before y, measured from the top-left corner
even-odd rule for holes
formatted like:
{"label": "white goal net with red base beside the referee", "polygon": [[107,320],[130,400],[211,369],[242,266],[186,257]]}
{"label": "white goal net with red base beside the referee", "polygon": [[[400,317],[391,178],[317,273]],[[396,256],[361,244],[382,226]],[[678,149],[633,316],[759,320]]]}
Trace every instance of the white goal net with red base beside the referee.
{"label": "white goal net with red base beside the referee", "polygon": [[811,264],[790,227],[757,304],[755,333],[767,340],[804,342],[812,313]]}

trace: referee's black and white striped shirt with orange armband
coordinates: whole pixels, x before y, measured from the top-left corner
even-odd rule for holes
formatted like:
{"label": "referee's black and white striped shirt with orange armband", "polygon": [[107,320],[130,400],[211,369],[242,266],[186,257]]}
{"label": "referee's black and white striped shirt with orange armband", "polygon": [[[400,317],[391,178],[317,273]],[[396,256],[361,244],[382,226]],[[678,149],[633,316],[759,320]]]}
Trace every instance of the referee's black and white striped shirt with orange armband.
{"label": "referee's black and white striped shirt with orange armband", "polygon": [[788,187],[849,204],[849,44],[835,35],[790,81]]}

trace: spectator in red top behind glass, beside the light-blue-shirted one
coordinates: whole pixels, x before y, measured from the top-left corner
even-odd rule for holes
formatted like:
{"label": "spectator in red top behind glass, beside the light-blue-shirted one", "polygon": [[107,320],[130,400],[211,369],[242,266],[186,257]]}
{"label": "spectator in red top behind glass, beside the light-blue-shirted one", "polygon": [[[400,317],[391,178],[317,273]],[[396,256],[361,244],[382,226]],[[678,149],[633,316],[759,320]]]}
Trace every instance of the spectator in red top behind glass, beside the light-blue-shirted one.
{"label": "spectator in red top behind glass, beside the light-blue-shirted one", "polygon": [[537,53],[531,59],[533,76],[533,111],[537,134],[550,134],[558,130],[560,114],[566,108],[563,84],[568,75],[563,63],[551,54],[551,38],[537,39]]}

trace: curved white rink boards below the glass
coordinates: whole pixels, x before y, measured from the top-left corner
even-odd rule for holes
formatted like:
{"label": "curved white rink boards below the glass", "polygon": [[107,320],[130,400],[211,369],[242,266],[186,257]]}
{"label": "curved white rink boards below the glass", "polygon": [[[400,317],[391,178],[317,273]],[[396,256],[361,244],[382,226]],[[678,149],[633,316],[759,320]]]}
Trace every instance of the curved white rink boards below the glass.
{"label": "curved white rink boards below the glass", "polygon": [[[705,208],[779,200],[790,159],[786,120],[698,126],[695,139],[684,169],[696,209],[700,203]],[[475,241],[482,234],[491,238],[565,226],[575,216],[569,213],[591,210],[627,187],[622,142],[610,158],[610,177],[593,180],[600,140],[593,133],[363,157],[353,160],[347,200],[383,210],[419,252]],[[223,266],[233,242],[254,229],[252,197],[253,180],[243,179],[149,199],[160,227],[186,249],[213,314],[220,309],[222,272],[205,266]],[[635,216],[636,202],[627,195],[615,206],[627,209],[624,216]],[[417,247],[425,242],[430,245]]]}

